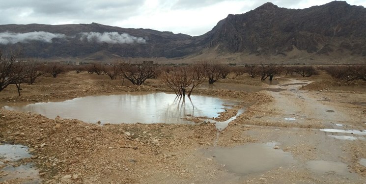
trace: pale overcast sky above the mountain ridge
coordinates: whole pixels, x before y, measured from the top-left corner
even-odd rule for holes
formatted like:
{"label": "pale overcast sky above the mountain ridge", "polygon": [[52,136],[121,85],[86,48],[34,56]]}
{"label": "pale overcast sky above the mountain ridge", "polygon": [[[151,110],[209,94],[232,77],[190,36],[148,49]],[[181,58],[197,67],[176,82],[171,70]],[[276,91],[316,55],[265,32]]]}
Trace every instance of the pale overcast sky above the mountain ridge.
{"label": "pale overcast sky above the mountain ridge", "polygon": [[[0,0],[3,24],[90,24],[204,34],[228,14],[242,14],[269,0]],[[332,0],[272,0],[279,7],[308,8]],[[366,7],[366,0],[347,0]]]}

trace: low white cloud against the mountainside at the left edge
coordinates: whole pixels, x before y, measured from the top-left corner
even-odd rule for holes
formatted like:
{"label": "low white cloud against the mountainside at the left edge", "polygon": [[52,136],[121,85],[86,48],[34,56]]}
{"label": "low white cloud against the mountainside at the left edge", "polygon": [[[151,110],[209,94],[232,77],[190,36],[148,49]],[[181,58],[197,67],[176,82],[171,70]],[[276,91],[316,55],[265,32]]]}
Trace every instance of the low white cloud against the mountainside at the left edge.
{"label": "low white cloud against the mountainside at the left edge", "polygon": [[27,43],[29,41],[42,41],[52,43],[52,39],[54,38],[66,38],[64,34],[54,34],[50,32],[44,31],[34,31],[34,32],[27,32],[27,33],[14,33],[14,32],[1,32],[0,33],[0,44],[15,44],[18,42]]}

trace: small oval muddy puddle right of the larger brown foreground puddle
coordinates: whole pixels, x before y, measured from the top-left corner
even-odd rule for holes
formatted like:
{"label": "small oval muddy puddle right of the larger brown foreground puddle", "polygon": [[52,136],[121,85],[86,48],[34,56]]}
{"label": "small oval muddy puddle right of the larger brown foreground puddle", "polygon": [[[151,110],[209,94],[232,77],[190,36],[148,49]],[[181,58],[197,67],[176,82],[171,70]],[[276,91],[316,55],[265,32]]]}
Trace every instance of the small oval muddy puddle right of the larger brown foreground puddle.
{"label": "small oval muddy puddle right of the larger brown foreground puddle", "polygon": [[342,162],[311,160],[306,163],[306,167],[316,174],[335,173],[338,175],[349,175],[347,164]]}

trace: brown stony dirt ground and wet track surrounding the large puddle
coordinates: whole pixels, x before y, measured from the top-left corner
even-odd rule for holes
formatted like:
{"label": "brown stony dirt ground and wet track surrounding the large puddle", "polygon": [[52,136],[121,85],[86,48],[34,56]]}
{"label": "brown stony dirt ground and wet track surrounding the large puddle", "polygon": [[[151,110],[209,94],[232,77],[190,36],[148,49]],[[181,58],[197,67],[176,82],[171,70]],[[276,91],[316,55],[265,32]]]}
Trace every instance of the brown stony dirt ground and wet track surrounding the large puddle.
{"label": "brown stony dirt ground and wet track surrounding the large puddle", "polygon": [[[276,84],[269,85],[244,74],[219,81],[263,87],[256,92],[197,88],[193,95],[242,102],[217,121],[248,106],[223,131],[200,121],[196,125],[101,126],[1,109],[1,144],[26,145],[32,157],[0,158],[0,169],[33,163],[44,184],[366,184],[366,166],[361,163],[366,159],[365,83],[341,83],[324,73],[275,80]],[[0,105],[134,91],[170,92],[160,79],[131,86],[121,79],[71,72],[22,84],[22,89],[20,97],[15,86],[1,91]],[[248,152],[246,146],[258,150]],[[259,157],[264,154],[262,148],[270,153],[266,158]],[[0,170],[0,183],[31,183],[27,178],[1,181],[7,175]]]}

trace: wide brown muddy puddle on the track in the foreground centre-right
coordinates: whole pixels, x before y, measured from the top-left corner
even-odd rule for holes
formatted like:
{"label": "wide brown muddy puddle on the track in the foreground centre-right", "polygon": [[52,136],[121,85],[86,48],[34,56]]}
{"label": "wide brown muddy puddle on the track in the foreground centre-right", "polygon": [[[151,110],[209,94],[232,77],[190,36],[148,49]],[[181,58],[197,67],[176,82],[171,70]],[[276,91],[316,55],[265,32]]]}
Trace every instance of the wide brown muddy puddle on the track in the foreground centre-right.
{"label": "wide brown muddy puddle on the track in the foreground centre-right", "polygon": [[274,149],[273,144],[252,143],[233,148],[212,148],[206,157],[213,157],[225,169],[232,173],[247,175],[263,173],[278,167],[294,163],[290,153]]}

